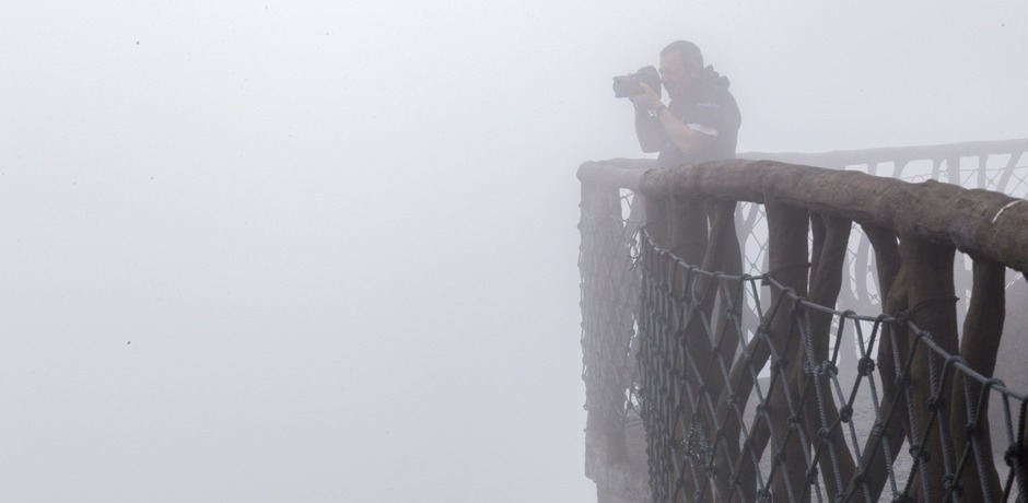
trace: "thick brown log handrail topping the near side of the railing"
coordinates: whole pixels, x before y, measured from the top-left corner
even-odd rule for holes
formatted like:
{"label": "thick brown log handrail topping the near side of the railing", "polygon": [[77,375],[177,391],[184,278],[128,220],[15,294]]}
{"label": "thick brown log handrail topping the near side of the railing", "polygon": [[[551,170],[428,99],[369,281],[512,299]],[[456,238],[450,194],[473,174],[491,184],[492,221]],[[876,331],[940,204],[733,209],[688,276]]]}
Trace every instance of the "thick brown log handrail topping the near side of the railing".
{"label": "thick brown log handrail topping the near side of the railing", "polygon": [[715,161],[642,175],[643,195],[779,202],[873,224],[900,238],[956,246],[1028,271],[1028,203],[1024,199],[927,180],[921,184],[775,161]]}

